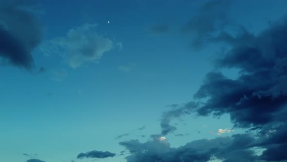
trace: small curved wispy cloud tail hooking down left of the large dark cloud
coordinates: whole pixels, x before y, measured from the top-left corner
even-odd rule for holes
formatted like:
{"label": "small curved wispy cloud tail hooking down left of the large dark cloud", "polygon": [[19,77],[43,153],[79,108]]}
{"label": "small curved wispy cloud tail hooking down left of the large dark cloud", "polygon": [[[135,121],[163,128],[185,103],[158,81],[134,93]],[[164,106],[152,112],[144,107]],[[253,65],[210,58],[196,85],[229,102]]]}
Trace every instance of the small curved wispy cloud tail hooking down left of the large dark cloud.
{"label": "small curved wispy cloud tail hooking down left of the large dark cloud", "polygon": [[171,120],[192,113],[196,107],[196,102],[189,102],[182,107],[178,108],[176,106],[172,110],[164,112],[161,117],[161,134],[167,135],[170,132],[174,132],[177,128],[170,124]]}

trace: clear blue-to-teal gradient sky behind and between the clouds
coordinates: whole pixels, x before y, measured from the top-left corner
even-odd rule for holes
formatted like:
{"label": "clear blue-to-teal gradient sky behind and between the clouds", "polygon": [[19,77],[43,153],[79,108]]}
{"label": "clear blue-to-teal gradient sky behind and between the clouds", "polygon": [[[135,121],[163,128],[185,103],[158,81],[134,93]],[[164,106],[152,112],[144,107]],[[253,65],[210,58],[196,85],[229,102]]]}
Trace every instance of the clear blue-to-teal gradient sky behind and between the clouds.
{"label": "clear blue-to-teal gradient sky behind and between the clouds", "polygon": [[[192,100],[220,50],[216,45],[194,50],[189,46],[191,36],[181,31],[206,1],[38,0],[36,13],[45,28],[42,42],[96,23],[99,35],[121,43],[122,48],[115,46],[98,62],[72,68],[59,55],[46,56],[40,44],[33,57],[37,68],[46,69],[44,73],[0,66],[0,161],[32,159],[22,155],[26,153],[45,162],[91,162],[93,159],[78,160],[76,156],[91,150],[120,155],[125,148],[118,142],[145,142],[149,135],[159,134],[161,114],[170,109],[167,105]],[[234,24],[256,34],[269,21],[287,14],[286,6],[286,0],[234,0],[228,15]],[[169,30],[149,31],[150,26],[160,24],[168,25]],[[237,75],[232,70],[226,74]],[[172,147],[212,139],[219,136],[218,129],[233,127],[229,115],[220,119],[183,116],[182,121],[172,122],[179,124],[176,132],[166,136]],[[143,125],[146,128],[138,130]],[[125,133],[129,135],[115,139]],[[124,158],[99,161],[124,162]]]}

